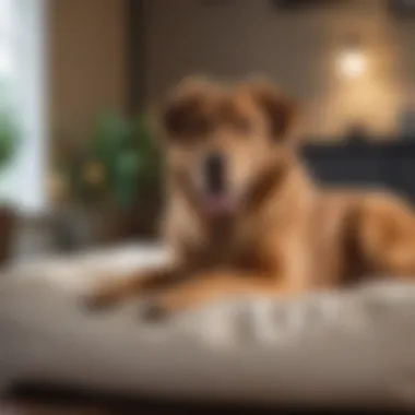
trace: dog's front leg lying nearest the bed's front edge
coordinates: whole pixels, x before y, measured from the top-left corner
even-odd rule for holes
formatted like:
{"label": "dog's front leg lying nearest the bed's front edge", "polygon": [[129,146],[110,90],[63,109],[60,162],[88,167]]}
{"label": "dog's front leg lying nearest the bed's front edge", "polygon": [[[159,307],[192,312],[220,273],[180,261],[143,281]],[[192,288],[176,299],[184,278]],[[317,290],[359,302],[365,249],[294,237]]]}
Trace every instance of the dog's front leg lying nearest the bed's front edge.
{"label": "dog's front leg lying nearest the bed's front edge", "polygon": [[304,292],[304,287],[289,280],[277,280],[273,275],[226,271],[201,273],[156,295],[144,313],[146,318],[157,319],[241,294],[290,297]]}

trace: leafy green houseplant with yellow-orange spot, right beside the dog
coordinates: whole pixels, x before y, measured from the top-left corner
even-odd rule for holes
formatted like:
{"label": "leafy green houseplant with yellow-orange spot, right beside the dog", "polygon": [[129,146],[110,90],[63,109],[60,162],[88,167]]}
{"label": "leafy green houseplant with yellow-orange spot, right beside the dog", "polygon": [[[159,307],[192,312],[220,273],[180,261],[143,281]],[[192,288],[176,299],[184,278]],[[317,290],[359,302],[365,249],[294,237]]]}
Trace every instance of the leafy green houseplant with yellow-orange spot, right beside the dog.
{"label": "leafy green houseplant with yellow-orange spot, right beside the dog", "polygon": [[121,236],[153,232],[144,228],[154,227],[161,205],[162,163],[145,115],[103,112],[87,138],[57,159],[72,202],[100,212]]}

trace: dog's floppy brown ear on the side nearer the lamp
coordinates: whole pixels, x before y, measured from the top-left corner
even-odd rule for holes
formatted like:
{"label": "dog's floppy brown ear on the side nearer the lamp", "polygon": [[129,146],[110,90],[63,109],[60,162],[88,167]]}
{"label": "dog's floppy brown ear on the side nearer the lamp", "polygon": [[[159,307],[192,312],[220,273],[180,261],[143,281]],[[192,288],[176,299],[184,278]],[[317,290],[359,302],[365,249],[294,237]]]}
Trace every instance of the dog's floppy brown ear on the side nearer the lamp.
{"label": "dog's floppy brown ear on the side nearer the lamp", "polygon": [[253,81],[248,90],[266,117],[272,139],[284,141],[295,122],[297,103],[266,81]]}

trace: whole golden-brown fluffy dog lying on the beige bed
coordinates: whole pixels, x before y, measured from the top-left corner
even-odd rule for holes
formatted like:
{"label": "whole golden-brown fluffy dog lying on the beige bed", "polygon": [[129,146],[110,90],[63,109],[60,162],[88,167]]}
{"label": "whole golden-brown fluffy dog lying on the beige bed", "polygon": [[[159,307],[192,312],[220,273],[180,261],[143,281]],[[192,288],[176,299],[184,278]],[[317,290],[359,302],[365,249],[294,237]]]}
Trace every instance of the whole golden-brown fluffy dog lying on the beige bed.
{"label": "whole golden-brown fluffy dog lying on the beige bed", "polygon": [[415,215],[401,199],[329,191],[299,161],[295,105],[266,82],[180,83],[161,106],[165,236],[175,264],[104,285],[107,306],[156,294],[173,312],[220,297],[297,295],[369,274],[415,276]]}

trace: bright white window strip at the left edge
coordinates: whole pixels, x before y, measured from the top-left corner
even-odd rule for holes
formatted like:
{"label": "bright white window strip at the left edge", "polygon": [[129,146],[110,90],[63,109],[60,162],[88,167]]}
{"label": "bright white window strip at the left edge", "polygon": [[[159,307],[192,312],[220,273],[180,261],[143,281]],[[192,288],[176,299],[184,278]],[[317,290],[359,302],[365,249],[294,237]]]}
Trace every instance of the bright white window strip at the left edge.
{"label": "bright white window strip at the left edge", "polygon": [[46,209],[46,1],[0,0],[0,106],[12,108],[22,133],[0,170],[0,203],[23,214]]}

